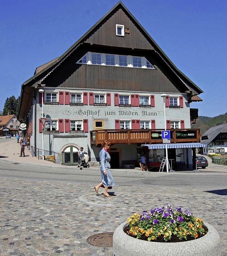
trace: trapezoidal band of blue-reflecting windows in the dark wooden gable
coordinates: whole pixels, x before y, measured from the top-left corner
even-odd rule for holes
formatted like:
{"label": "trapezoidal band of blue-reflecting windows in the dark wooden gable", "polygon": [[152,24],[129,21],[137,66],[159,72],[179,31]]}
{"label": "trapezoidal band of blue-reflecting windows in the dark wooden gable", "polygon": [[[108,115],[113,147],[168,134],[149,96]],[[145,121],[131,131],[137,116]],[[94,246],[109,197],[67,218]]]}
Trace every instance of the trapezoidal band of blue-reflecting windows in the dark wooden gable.
{"label": "trapezoidal band of blue-reflecting windows in the dark wooden gable", "polygon": [[78,64],[155,69],[145,57],[87,52]]}

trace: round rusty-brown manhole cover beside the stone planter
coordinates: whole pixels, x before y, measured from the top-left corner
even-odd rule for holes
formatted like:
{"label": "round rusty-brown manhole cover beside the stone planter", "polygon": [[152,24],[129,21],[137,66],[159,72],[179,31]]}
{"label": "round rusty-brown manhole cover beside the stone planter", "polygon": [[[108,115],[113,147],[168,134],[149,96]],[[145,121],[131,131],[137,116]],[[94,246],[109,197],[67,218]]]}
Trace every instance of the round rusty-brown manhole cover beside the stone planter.
{"label": "round rusty-brown manhole cover beside the stone planter", "polygon": [[87,243],[99,247],[113,247],[113,234],[113,232],[107,232],[89,236]]}

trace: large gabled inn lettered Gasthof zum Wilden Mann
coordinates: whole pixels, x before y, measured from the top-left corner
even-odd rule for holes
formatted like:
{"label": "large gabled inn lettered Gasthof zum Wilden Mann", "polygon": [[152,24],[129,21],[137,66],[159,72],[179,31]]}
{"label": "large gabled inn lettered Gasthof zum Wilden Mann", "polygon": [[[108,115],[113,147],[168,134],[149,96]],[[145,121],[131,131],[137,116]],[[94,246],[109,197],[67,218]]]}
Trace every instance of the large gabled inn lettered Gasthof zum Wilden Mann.
{"label": "large gabled inn lettered Gasthof zum Wilden Mann", "polygon": [[45,154],[59,153],[57,163],[77,164],[80,146],[99,162],[103,140],[111,142],[112,168],[139,162],[143,152],[147,162],[160,162],[166,128],[173,165],[193,169],[201,144],[190,103],[200,93],[119,1],[22,84],[18,117],[32,150],[40,152],[43,136]]}

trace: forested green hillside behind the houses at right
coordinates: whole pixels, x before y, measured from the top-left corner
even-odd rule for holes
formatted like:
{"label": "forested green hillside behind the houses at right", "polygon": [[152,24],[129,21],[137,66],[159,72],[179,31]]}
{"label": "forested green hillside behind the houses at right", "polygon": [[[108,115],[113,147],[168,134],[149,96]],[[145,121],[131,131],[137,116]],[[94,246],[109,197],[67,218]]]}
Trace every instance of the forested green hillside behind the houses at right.
{"label": "forested green hillside behind the houses at right", "polygon": [[196,124],[192,125],[192,128],[200,129],[201,134],[204,134],[210,127],[220,125],[223,121],[227,121],[227,112],[215,117],[199,116],[196,120]]}

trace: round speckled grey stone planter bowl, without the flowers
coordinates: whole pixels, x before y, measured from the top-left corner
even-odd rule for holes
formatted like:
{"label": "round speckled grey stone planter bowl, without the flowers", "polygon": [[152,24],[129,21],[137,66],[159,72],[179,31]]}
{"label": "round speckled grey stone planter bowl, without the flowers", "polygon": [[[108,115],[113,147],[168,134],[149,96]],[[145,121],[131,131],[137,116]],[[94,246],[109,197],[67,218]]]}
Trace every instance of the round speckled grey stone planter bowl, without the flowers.
{"label": "round speckled grey stone planter bowl, without the flowers", "polygon": [[114,232],[114,256],[221,255],[220,236],[218,235],[216,229],[207,223],[204,223],[204,225],[208,228],[208,233],[205,236],[191,241],[176,243],[149,242],[136,239],[124,233],[123,229],[126,225],[126,222],[122,223]]}

